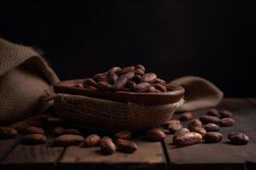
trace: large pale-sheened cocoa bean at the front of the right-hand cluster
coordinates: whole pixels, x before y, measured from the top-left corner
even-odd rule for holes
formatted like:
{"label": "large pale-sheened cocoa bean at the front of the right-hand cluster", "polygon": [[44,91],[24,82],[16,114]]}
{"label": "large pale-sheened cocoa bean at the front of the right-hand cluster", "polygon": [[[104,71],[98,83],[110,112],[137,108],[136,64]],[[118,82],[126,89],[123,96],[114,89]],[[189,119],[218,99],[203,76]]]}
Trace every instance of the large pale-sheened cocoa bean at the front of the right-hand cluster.
{"label": "large pale-sheened cocoa bean at the front of the right-hand cluster", "polygon": [[200,133],[190,132],[177,136],[176,143],[180,145],[190,145],[200,143],[202,136]]}

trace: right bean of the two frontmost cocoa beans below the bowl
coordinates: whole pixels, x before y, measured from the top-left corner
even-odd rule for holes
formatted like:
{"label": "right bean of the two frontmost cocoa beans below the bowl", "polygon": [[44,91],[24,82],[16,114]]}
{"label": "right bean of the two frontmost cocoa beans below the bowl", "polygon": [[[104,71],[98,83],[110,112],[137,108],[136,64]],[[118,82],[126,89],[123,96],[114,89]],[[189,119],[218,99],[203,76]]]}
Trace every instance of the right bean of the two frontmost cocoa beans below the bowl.
{"label": "right bean of the two frontmost cocoa beans below the bowl", "polygon": [[119,150],[124,151],[126,153],[133,153],[138,149],[137,144],[125,139],[117,139],[115,141],[116,146]]}

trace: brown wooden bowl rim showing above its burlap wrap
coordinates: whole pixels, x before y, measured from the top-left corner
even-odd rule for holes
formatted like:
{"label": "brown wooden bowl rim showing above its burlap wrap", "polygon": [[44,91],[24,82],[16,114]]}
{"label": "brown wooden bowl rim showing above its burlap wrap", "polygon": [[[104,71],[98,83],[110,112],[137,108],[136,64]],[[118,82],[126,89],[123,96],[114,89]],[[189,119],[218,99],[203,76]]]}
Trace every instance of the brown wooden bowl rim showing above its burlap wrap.
{"label": "brown wooden bowl rim showing above its burlap wrap", "polygon": [[56,94],[74,94],[88,96],[97,99],[109,99],[122,103],[135,103],[140,105],[165,105],[176,103],[184,96],[184,88],[177,85],[167,84],[167,92],[163,93],[136,93],[136,92],[112,92],[100,91],[89,88],[78,88],[76,85],[84,79],[57,82],[54,85]]}

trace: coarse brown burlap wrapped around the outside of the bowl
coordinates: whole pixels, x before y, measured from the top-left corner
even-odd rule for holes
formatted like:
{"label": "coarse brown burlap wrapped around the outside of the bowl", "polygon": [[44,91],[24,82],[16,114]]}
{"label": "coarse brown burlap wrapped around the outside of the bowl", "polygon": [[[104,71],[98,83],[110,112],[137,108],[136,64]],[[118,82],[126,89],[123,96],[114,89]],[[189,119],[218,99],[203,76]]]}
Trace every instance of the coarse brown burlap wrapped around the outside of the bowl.
{"label": "coarse brown burlap wrapped around the outside of the bowl", "polygon": [[180,105],[183,99],[168,105],[137,105],[80,95],[55,95],[55,109],[61,120],[105,131],[159,126],[169,120]]}

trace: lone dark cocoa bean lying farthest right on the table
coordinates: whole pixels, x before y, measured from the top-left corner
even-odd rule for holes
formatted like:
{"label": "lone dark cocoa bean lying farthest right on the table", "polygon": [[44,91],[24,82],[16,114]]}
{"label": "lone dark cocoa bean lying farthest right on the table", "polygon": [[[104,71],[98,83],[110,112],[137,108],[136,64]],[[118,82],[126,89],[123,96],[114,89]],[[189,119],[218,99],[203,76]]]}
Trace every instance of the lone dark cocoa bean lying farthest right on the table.
{"label": "lone dark cocoa bean lying farthest right on the table", "polygon": [[228,138],[231,144],[247,144],[249,142],[249,137],[245,133],[232,132],[229,133]]}

